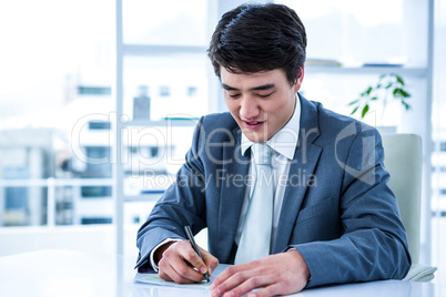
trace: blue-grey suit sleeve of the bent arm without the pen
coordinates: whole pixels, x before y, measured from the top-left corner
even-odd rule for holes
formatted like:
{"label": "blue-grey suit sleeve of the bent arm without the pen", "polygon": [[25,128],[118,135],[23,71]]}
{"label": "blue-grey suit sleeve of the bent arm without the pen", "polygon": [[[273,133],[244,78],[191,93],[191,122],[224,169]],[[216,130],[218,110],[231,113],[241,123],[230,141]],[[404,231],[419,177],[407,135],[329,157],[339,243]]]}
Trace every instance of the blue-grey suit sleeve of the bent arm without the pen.
{"label": "blue-grey suit sleeve of the bent arm without the pen", "polygon": [[402,279],[410,267],[397,202],[387,186],[381,136],[375,130],[367,133],[359,133],[346,154],[339,194],[343,235],[291,245],[308,265],[312,278],[307,287]]}

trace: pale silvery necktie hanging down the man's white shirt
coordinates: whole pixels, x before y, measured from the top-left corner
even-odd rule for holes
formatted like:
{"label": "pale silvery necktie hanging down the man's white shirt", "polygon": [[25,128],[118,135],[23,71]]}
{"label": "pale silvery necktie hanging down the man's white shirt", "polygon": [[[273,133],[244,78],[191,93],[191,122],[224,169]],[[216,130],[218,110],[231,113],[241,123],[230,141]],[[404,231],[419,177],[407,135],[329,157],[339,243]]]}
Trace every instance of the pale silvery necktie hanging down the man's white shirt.
{"label": "pale silvery necktie hanging down the man's white shirt", "polygon": [[272,150],[267,144],[261,143],[253,144],[252,150],[256,171],[255,184],[235,254],[235,264],[270,254],[273,224]]}

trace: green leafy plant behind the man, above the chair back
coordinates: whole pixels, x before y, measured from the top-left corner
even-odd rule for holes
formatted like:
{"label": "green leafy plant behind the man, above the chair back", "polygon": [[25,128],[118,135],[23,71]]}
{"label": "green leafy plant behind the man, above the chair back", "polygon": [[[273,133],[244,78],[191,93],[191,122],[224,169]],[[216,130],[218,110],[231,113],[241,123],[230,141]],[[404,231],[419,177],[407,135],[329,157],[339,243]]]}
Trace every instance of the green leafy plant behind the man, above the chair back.
{"label": "green leafy plant behind the man, above the chair back", "polygon": [[369,85],[359,98],[349,102],[353,107],[351,115],[361,112],[361,119],[371,110],[371,105],[375,102],[381,102],[383,105],[383,114],[389,100],[399,101],[407,111],[410,105],[406,102],[410,94],[404,89],[406,86],[402,76],[395,73],[385,73],[379,75],[378,82],[375,85]]}

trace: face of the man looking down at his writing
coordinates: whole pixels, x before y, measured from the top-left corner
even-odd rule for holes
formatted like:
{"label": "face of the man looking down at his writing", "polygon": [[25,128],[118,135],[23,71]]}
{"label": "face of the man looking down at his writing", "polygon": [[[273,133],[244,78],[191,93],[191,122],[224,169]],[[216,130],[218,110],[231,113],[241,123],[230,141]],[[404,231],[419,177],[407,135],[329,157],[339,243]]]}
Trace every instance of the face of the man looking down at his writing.
{"label": "face of the man looking down at his writing", "polygon": [[304,70],[293,85],[281,69],[235,74],[221,68],[224,101],[252,142],[265,142],[292,117]]}

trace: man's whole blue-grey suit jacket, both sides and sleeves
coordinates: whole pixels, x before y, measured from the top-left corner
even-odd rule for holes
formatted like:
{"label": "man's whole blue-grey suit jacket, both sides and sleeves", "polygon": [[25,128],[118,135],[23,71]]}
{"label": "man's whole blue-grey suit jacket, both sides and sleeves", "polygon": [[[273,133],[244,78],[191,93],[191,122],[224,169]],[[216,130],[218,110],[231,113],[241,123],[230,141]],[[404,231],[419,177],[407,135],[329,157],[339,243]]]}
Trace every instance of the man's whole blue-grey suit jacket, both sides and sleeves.
{"label": "man's whole blue-grey suit jacket, both sides and sleeves", "polygon": [[[301,130],[272,253],[296,248],[312,279],[307,287],[403,278],[410,267],[407,238],[384,168],[379,133],[301,98]],[[204,116],[186,162],[138,234],[146,265],[165,238],[209,231],[209,250],[234,262],[234,237],[245,194],[250,151],[231,114]]]}

